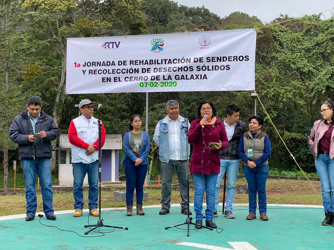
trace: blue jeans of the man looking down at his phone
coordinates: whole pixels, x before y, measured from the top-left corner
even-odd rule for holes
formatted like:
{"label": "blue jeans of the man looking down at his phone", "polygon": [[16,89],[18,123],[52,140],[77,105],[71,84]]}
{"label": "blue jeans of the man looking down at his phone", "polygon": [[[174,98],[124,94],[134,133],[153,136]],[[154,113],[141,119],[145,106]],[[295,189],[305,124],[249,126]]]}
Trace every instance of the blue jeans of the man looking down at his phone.
{"label": "blue jeans of the man looking down at his phone", "polygon": [[36,172],[42,189],[43,211],[45,216],[53,214],[53,192],[51,182],[50,159],[36,157],[35,160],[22,158],[23,176],[25,180],[25,199],[27,216],[35,216],[37,209]]}

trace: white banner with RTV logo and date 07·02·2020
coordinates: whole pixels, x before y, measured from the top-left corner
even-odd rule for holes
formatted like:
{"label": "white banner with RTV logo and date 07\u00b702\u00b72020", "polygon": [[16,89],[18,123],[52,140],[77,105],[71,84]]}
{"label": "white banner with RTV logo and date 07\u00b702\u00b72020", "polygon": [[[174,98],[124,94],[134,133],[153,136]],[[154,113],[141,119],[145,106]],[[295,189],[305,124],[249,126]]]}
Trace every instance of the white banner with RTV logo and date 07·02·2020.
{"label": "white banner with RTV logo and date 07\u00b702\u00b72020", "polygon": [[256,30],[67,38],[66,93],[255,88]]}

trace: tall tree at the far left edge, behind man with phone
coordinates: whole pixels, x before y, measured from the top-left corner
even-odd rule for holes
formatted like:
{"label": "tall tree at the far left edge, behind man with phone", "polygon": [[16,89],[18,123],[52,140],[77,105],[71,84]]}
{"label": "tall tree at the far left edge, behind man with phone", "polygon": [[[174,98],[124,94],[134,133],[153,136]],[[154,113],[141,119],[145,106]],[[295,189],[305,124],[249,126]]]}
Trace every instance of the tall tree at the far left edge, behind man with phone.
{"label": "tall tree at the far left edge, behind man with phone", "polygon": [[8,150],[15,149],[16,144],[8,137],[9,127],[14,117],[24,108],[25,97],[30,92],[22,82],[27,58],[21,48],[20,1],[2,0],[0,2],[0,145],[3,152],[4,188],[8,185]]}

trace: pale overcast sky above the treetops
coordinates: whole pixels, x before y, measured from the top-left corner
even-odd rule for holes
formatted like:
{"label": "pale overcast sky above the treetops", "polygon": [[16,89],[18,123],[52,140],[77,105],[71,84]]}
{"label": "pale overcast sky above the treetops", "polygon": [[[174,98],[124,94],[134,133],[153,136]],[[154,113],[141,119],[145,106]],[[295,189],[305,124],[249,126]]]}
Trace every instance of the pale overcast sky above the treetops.
{"label": "pale overcast sky above the treetops", "polygon": [[[189,7],[205,6],[221,18],[234,11],[257,16],[263,23],[271,22],[282,14],[300,17],[318,13],[334,7],[333,0],[175,0],[178,4]],[[333,11],[327,11],[323,18],[330,18]]]}

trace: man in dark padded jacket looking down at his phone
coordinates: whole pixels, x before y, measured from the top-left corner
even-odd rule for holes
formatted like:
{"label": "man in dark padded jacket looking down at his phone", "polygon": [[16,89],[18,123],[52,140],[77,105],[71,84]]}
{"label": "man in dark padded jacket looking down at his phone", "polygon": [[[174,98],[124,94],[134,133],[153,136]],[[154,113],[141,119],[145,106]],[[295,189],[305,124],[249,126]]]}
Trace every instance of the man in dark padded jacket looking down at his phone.
{"label": "man in dark padded jacket looking down at his phone", "polygon": [[59,129],[52,117],[41,111],[42,99],[39,96],[28,98],[27,110],[15,117],[9,128],[9,138],[18,144],[19,158],[22,162],[25,180],[25,199],[27,201],[26,221],[35,218],[37,209],[36,172],[40,180],[43,211],[47,219],[55,220],[53,214],[53,193],[51,183],[50,158],[51,141],[59,135]]}

